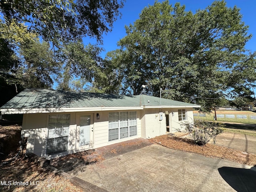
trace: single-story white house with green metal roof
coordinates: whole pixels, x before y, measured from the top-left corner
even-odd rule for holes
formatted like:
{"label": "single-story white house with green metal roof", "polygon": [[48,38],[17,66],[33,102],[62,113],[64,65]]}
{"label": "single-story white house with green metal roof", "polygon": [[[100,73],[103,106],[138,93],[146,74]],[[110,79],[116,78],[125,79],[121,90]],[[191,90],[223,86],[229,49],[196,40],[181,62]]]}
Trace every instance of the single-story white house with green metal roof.
{"label": "single-story white house with green metal roof", "polygon": [[47,159],[134,138],[176,132],[196,104],[154,96],[25,89],[0,108],[23,114],[27,152]]}

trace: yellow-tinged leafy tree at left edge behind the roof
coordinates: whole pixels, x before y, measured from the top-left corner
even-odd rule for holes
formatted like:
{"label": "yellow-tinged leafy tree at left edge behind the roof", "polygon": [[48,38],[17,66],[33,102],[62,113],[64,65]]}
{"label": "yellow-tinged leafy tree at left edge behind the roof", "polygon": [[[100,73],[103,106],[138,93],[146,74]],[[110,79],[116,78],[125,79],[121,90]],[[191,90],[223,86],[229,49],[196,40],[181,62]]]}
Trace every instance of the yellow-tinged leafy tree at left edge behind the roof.
{"label": "yellow-tinged leafy tree at left edge behind the roof", "polygon": [[60,64],[54,60],[50,45],[40,42],[37,34],[24,24],[0,20],[0,76],[5,84],[22,88],[50,88]]}

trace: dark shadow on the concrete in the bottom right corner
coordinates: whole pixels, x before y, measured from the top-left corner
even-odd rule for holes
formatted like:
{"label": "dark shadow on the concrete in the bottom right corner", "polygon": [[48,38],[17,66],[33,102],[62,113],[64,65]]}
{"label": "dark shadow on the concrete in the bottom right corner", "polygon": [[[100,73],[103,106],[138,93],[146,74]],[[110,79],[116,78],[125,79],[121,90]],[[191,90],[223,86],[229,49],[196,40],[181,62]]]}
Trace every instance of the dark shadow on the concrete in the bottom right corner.
{"label": "dark shadow on the concrete in the bottom right corner", "polygon": [[221,167],[218,168],[218,171],[222,178],[237,192],[256,191],[255,168]]}

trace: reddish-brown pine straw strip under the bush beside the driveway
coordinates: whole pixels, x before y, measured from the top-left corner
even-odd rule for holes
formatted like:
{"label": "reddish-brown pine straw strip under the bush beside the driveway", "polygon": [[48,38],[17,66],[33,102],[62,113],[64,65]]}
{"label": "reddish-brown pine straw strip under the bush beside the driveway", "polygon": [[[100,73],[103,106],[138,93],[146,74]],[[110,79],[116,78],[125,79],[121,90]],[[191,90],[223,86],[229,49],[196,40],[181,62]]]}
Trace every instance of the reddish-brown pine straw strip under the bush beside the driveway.
{"label": "reddish-brown pine straw strip under the bush beside the driveway", "polygon": [[149,140],[151,142],[161,144],[162,146],[166,146],[171,149],[182,150],[186,152],[201,154],[206,157],[221,158],[238,162],[240,164],[256,166],[256,154],[252,153],[242,152],[222,146],[216,146],[213,144],[198,146],[195,145],[190,139],[180,138],[176,136],[162,135],[151,138]]}

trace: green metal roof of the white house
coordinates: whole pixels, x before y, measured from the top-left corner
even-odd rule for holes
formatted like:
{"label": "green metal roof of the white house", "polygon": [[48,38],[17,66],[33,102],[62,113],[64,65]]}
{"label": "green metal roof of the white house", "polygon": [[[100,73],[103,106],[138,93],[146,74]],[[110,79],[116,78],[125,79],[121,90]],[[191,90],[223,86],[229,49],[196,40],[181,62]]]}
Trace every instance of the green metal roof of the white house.
{"label": "green metal roof of the white house", "polygon": [[[70,109],[83,109],[84,111],[86,109],[107,110],[109,108],[112,110],[122,110],[122,108],[143,109],[147,106],[156,108],[161,106],[200,107],[198,105],[164,98],[161,99],[160,104],[160,98],[147,95],[128,96],[32,88],[20,92],[4,104],[0,108],[0,111],[2,114],[10,114],[40,112],[39,109],[43,109],[41,112],[64,112]],[[35,111],[33,109],[37,110]]]}

